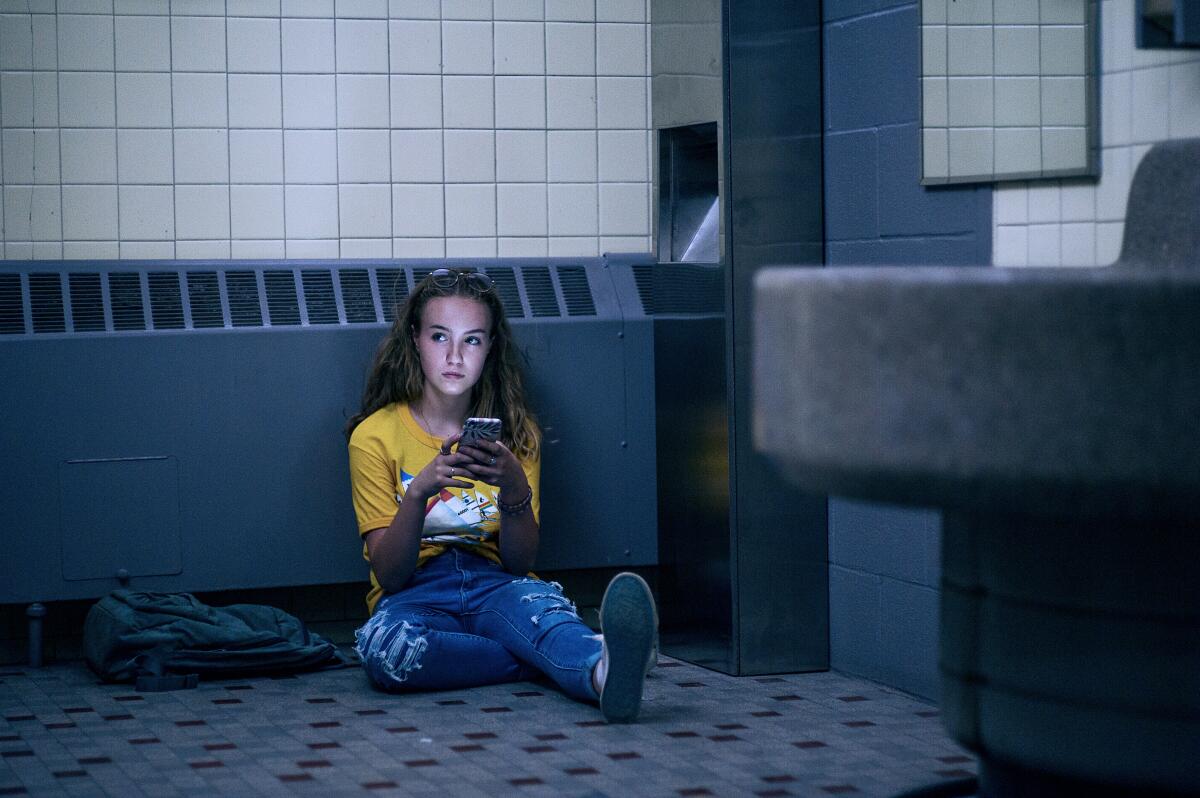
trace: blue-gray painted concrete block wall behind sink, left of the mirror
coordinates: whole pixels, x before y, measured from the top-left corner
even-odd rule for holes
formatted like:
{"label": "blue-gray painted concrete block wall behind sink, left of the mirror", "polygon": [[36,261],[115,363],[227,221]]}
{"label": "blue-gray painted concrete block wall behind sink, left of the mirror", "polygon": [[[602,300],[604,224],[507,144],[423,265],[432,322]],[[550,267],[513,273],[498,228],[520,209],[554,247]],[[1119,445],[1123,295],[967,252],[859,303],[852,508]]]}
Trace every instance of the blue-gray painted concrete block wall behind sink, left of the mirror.
{"label": "blue-gray painted concrete block wall behind sink, left of the mirror", "polygon": [[[826,264],[986,265],[991,186],[920,186],[920,8],[824,4]],[[936,511],[829,498],[834,668],[936,698]]]}

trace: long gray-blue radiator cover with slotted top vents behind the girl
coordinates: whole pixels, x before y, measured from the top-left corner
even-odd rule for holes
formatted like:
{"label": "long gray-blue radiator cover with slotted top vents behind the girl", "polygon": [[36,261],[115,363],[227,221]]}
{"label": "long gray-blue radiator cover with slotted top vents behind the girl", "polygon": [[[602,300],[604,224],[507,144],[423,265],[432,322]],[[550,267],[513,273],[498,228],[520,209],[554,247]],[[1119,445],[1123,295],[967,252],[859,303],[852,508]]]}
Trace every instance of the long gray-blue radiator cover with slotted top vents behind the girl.
{"label": "long gray-blue radiator cover with slotted top vents behind the girl", "polygon": [[[529,359],[538,568],[654,564],[644,263],[466,263]],[[342,426],[440,265],[0,263],[0,604],[365,580]]]}

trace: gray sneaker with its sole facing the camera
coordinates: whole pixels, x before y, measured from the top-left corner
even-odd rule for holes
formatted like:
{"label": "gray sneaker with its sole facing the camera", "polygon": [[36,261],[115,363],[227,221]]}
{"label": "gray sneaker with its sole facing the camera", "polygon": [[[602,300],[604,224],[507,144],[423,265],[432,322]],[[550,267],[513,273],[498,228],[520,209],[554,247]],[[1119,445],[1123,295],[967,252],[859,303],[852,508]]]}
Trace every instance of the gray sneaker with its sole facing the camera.
{"label": "gray sneaker with its sole facing the camera", "polygon": [[629,724],[637,719],[658,628],[658,611],[646,580],[628,571],[614,576],[600,602],[600,631],[607,659],[600,712],[608,722]]}

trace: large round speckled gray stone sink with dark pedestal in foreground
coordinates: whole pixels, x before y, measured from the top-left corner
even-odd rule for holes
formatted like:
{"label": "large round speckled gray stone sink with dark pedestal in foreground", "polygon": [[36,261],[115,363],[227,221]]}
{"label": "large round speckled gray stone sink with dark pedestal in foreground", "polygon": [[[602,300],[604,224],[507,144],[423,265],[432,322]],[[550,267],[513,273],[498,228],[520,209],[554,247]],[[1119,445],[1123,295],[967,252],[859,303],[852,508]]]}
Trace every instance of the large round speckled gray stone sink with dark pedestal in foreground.
{"label": "large round speckled gray stone sink with dark pedestal in foreground", "polygon": [[1200,792],[1200,142],[1098,269],[770,269],[755,443],[943,510],[942,715],[985,796]]}

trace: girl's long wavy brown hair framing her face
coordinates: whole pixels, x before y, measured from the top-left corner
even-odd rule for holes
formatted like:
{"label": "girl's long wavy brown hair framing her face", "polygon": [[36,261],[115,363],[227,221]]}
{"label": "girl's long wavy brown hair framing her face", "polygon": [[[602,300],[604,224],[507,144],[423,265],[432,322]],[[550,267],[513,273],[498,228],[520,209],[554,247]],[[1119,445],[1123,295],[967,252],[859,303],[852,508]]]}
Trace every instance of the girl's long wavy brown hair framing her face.
{"label": "girl's long wavy brown hair framing her face", "polygon": [[[454,271],[469,274],[470,269]],[[472,281],[457,280],[454,286],[442,288],[426,276],[403,304],[397,304],[391,330],[379,342],[374,361],[362,391],[362,410],[346,422],[346,437],[354,427],[376,410],[394,402],[412,403],[421,398],[425,390],[425,372],[416,350],[413,334],[421,329],[421,314],[430,300],[440,296],[466,296],[482,302],[492,317],[492,348],[484,361],[484,371],[470,391],[469,415],[500,419],[500,440],[521,460],[536,457],[541,450],[541,432],[538,421],[526,403],[524,383],[521,377],[518,352],[512,342],[512,331],[504,317],[504,305],[493,286],[479,290]]]}

